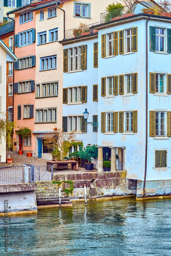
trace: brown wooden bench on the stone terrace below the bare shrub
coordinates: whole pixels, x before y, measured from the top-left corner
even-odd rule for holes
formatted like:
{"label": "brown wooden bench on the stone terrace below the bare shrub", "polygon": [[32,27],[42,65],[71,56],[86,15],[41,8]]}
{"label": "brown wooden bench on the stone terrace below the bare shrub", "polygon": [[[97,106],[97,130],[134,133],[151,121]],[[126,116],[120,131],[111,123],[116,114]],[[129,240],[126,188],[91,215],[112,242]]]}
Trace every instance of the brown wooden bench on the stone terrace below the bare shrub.
{"label": "brown wooden bench on the stone terrace below the bare shrub", "polygon": [[48,161],[47,165],[53,165],[55,169],[68,169],[69,163],[72,165],[72,170],[78,170],[78,161],[74,160]]}

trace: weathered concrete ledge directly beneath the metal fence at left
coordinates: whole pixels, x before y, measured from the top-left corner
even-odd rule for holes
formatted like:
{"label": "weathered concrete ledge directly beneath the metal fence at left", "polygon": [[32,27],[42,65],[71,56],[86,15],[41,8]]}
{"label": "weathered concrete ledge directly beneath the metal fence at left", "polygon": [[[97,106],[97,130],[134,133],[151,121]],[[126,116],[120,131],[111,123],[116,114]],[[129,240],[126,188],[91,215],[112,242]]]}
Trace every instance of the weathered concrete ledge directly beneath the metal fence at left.
{"label": "weathered concrete ledge directly beneath the metal fence at left", "polygon": [[37,190],[37,183],[0,184],[0,194],[34,190]]}

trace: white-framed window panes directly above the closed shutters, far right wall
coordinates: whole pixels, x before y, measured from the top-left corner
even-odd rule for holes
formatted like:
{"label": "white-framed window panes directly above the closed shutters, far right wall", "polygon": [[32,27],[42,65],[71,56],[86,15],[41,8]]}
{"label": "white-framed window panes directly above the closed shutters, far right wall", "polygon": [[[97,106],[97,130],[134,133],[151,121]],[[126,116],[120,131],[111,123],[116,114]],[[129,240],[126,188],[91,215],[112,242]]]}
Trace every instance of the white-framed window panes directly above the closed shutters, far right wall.
{"label": "white-framed window panes directly above the closed shutters, far right wall", "polygon": [[156,112],[156,136],[166,136],[165,112]]}

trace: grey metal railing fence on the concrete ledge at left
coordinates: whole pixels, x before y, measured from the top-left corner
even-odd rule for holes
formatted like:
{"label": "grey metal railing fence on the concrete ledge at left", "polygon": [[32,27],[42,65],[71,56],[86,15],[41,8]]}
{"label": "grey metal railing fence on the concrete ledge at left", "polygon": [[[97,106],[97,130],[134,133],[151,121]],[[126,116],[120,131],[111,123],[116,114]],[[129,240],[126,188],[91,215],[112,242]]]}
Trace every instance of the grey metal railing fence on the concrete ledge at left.
{"label": "grey metal railing fence on the concrete ledge at left", "polygon": [[53,179],[53,166],[34,166],[29,164],[19,166],[0,166],[0,184],[25,183]]}

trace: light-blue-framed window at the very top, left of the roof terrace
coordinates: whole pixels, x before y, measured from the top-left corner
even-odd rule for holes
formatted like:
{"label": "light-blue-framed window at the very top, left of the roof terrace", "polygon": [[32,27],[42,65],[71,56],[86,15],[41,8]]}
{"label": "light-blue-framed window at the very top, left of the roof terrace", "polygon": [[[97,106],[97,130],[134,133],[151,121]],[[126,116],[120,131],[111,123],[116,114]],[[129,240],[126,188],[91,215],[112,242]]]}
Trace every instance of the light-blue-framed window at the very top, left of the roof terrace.
{"label": "light-blue-framed window at the very top, left of the roof terrace", "polygon": [[83,18],[90,18],[90,10],[91,4],[85,3],[74,3],[74,16],[83,17]]}

